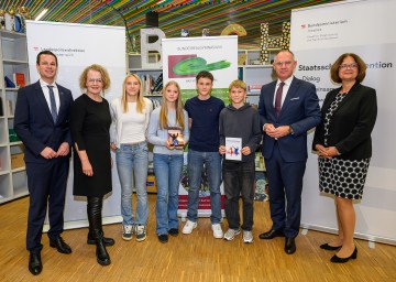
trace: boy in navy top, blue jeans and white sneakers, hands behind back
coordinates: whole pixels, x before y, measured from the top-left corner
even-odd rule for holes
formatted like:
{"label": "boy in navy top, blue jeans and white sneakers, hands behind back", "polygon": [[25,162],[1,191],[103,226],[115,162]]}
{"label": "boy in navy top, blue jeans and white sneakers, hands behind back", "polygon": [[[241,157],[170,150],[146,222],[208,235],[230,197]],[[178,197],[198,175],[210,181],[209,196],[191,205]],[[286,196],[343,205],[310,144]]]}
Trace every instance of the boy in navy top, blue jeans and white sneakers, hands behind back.
{"label": "boy in navy top, blue jeans and white sneakers, hands behind back", "polygon": [[190,139],[188,145],[188,203],[187,223],[183,234],[191,234],[197,227],[199,187],[204,166],[208,175],[211,205],[211,228],[215,238],[222,238],[221,229],[221,155],[219,154],[219,115],[224,102],[210,95],[213,75],[202,70],[197,77],[198,95],[188,99],[185,109],[188,112]]}

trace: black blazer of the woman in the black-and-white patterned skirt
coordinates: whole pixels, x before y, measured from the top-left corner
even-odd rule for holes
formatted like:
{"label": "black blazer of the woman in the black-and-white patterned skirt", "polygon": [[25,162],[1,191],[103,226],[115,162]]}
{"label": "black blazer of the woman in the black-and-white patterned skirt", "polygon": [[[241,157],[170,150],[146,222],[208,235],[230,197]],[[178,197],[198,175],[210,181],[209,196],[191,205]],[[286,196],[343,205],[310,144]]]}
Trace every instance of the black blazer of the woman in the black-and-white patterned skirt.
{"label": "black blazer of the woman in the black-and-white patterned skirt", "polygon": [[[324,144],[324,115],[340,88],[326,96],[321,108],[322,122],[316,128],[312,150],[316,144]],[[328,147],[336,147],[343,160],[362,160],[372,155],[371,132],[377,116],[375,89],[354,84],[340,102],[330,119]]]}

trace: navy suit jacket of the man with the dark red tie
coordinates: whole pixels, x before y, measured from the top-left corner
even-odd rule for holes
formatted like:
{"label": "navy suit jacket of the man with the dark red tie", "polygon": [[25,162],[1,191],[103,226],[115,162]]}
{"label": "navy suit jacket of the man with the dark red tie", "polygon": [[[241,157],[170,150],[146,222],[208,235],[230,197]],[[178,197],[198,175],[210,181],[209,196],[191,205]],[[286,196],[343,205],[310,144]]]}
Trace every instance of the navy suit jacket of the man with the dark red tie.
{"label": "navy suit jacket of the man with the dark red tie", "polygon": [[[315,85],[296,77],[285,97],[278,117],[275,115],[274,95],[276,80],[266,84],[261,89],[258,113],[261,127],[273,123],[274,127],[290,126],[294,134],[277,140],[282,158],[286,162],[301,162],[308,158],[307,131],[319,124],[320,107]],[[273,153],[275,139],[263,134],[263,156],[270,159]]]}

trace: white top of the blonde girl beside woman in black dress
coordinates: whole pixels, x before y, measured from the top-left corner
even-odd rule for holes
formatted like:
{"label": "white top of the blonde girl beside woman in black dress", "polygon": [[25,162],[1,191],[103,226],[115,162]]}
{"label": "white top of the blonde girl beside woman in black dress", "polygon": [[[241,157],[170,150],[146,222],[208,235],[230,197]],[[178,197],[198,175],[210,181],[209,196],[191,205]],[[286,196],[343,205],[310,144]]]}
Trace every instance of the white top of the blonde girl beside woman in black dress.
{"label": "white top of the blonde girl beside woman in black dress", "polygon": [[113,99],[110,104],[111,127],[110,141],[120,148],[120,144],[134,144],[146,140],[150,115],[153,102],[143,98],[145,108],[142,113],[136,111],[136,102],[128,102],[128,111],[122,112],[121,98]]}

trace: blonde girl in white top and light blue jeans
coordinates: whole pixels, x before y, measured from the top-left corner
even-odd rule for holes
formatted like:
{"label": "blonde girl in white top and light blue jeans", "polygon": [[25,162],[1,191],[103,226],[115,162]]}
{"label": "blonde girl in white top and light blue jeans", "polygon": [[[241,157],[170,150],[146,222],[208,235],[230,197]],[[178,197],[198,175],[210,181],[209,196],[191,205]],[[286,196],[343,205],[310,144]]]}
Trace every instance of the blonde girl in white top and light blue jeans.
{"label": "blonde girl in white top and light blue jeans", "polygon": [[[148,150],[145,133],[153,111],[153,104],[143,97],[141,86],[138,75],[128,75],[123,82],[122,96],[112,100],[110,105],[110,147],[116,152],[121,183],[122,238],[131,240],[135,234],[136,241],[146,238]],[[132,212],[133,175],[138,195],[136,217]]]}

